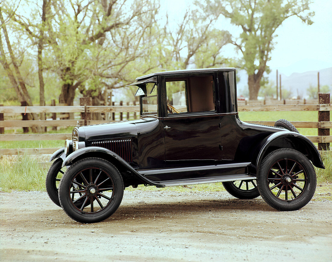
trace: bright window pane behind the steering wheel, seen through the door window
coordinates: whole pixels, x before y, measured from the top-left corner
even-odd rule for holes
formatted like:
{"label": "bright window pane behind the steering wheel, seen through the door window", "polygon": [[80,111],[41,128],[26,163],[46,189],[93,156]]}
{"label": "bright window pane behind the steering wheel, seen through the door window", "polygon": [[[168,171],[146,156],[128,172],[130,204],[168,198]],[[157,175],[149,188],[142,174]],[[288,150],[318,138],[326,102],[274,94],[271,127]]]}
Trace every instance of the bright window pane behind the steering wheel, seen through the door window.
{"label": "bright window pane behind the steering wheel, seen through the door window", "polygon": [[166,82],[167,109],[169,113],[188,112],[186,80]]}

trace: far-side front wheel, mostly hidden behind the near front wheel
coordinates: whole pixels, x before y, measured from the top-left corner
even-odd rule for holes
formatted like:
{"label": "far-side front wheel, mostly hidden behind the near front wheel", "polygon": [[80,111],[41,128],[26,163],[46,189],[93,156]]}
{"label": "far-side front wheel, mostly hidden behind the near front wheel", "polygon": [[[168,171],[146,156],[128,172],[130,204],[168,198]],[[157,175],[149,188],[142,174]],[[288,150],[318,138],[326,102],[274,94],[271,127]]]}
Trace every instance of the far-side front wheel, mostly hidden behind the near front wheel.
{"label": "far-side front wheel, mostly hidden behind the near front wheel", "polygon": [[[62,159],[57,158],[51,167],[48,169],[45,187],[46,192],[49,198],[53,201],[53,203],[60,207],[58,188],[62,175],[64,174],[64,170],[61,170]],[[64,168],[65,169],[65,168]]]}

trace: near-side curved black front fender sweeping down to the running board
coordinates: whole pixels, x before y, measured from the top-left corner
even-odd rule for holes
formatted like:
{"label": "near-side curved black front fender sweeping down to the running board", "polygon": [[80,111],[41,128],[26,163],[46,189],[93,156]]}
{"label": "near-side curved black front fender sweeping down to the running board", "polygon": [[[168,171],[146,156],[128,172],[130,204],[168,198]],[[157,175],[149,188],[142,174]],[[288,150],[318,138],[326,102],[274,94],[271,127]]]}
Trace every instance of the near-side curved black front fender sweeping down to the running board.
{"label": "near-side curved black front fender sweeping down to the running board", "polygon": [[73,164],[74,162],[76,162],[80,159],[83,159],[85,157],[94,157],[94,156],[97,156],[97,157],[102,156],[104,159],[106,159],[112,163],[115,163],[116,165],[117,164],[122,165],[126,170],[131,172],[133,175],[138,177],[140,180],[142,180],[146,184],[157,186],[157,187],[165,187],[164,185],[155,183],[155,182],[145,178],[144,176],[142,176],[132,166],[130,166],[126,161],[124,161],[124,159],[122,159],[119,155],[117,155],[113,151],[111,151],[107,148],[99,147],[99,146],[89,146],[89,147],[84,147],[84,148],[74,151],[73,153],[68,155],[66,157],[66,159],[64,159],[64,161],[62,163],[62,167],[69,166],[69,165]]}

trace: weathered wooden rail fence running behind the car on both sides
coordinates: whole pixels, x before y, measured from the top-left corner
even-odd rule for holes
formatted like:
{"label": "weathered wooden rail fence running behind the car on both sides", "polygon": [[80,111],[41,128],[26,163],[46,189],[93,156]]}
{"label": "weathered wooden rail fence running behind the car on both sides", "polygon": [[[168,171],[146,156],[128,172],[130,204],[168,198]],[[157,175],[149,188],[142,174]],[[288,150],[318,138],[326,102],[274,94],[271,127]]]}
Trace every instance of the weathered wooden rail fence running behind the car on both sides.
{"label": "weathered wooden rail fence running behind the car on both sides", "polygon": [[[323,94],[324,95],[324,94]],[[307,136],[312,142],[318,143],[319,150],[329,150],[329,143],[332,142],[330,129],[332,122],[330,122],[330,111],[332,104],[330,104],[330,94],[323,96],[320,99],[320,104],[306,104],[306,105],[239,105],[239,112],[265,112],[265,111],[318,111],[317,122],[292,122],[296,128],[315,128],[318,129],[317,136]],[[88,104],[88,103],[87,103]],[[139,106],[34,106],[34,107],[0,107],[1,114],[21,114],[21,113],[81,113],[79,120],[2,120],[0,118],[0,128],[22,128],[22,127],[59,127],[59,126],[76,126],[77,121],[80,125],[93,125],[107,123],[105,120],[92,120],[91,113],[120,113],[121,116],[126,115],[129,118],[129,113],[134,113],[137,117],[139,114]],[[323,117],[320,117],[323,116]],[[247,121],[255,124],[274,125],[274,121]],[[42,134],[0,134],[0,141],[13,140],[64,140],[70,139],[71,133],[42,133]],[[1,144],[0,144],[1,147]],[[51,154],[57,148],[0,148],[0,155],[15,155],[24,152],[28,154]]]}

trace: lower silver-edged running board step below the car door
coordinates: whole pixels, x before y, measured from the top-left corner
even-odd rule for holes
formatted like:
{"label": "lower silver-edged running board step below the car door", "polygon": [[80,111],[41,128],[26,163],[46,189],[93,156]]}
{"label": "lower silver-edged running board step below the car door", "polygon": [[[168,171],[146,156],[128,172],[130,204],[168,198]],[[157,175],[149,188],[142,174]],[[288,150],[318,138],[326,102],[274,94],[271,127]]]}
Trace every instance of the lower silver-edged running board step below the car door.
{"label": "lower silver-edged running board step below the car door", "polygon": [[236,180],[253,180],[253,179],[256,179],[256,177],[249,175],[231,175],[231,176],[228,175],[228,176],[208,177],[208,178],[199,178],[199,179],[163,181],[160,182],[160,185],[163,185],[165,187],[171,187],[171,186],[197,185],[197,184],[217,183],[217,182],[236,181]]}

